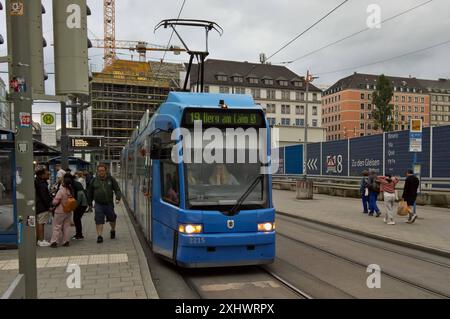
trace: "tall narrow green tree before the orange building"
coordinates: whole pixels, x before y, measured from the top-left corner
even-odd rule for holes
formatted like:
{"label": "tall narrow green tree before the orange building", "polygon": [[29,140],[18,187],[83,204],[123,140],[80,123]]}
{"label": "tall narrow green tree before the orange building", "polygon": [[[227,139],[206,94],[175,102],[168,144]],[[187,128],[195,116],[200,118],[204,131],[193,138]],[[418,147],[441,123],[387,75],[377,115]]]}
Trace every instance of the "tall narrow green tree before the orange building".
{"label": "tall narrow green tree before the orange building", "polygon": [[373,92],[372,98],[372,117],[374,119],[374,129],[381,129],[383,132],[393,130],[394,119],[392,110],[394,106],[389,104],[394,95],[394,89],[389,80],[381,74],[378,77],[377,89]]}

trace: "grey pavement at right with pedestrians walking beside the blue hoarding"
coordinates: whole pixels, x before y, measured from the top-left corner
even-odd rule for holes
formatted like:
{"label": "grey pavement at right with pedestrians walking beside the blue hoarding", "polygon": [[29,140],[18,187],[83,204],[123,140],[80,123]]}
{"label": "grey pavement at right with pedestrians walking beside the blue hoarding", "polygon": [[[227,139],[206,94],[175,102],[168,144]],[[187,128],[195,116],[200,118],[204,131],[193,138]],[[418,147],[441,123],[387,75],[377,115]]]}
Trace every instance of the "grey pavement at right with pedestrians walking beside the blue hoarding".
{"label": "grey pavement at right with pedestrians walking beside the blue hoarding", "polygon": [[[313,200],[297,200],[295,192],[273,190],[274,206],[280,215],[289,215],[331,227],[422,249],[450,257],[450,209],[417,206],[417,220],[395,215],[395,225],[383,222],[386,210],[378,202],[378,218],[362,213],[361,200],[314,194]],[[397,205],[396,205],[397,207]]]}

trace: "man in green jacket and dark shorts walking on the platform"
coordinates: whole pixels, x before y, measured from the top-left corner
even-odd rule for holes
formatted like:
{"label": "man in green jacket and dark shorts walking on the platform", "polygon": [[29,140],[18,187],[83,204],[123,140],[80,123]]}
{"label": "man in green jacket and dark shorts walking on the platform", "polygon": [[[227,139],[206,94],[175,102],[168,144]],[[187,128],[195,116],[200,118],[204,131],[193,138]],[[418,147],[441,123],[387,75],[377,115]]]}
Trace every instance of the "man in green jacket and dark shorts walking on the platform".
{"label": "man in green jacket and dark shorts walking on the platform", "polygon": [[106,221],[111,225],[111,239],[116,238],[117,215],[114,212],[114,194],[116,204],[120,202],[122,193],[114,177],[107,174],[105,164],[97,166],[97,176],[91,181],[88,188],[88,202],[92,206],[95,201],[95,225],[97,228],[97,243],[103,242],[103,225]]}

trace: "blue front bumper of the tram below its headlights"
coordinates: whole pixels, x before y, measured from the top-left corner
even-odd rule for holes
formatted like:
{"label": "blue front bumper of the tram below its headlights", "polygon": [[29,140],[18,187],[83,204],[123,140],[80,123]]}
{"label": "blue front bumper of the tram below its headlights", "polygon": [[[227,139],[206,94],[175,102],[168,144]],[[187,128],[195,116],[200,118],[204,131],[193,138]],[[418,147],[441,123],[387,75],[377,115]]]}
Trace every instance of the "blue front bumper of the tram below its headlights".
{"label": "blue front bumper of the tram below its headlights", "polygon": [[188,268],[268,264],[275,258],[275,232],[179,233],[176,256]]}

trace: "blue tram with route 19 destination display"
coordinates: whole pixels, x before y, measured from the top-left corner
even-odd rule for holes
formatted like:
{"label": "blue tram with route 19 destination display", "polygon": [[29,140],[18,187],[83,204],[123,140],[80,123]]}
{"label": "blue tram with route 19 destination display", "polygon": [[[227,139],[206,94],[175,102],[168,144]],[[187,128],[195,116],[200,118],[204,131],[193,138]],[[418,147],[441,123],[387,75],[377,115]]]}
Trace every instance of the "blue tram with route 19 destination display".
{"label": "blue tram with route 19 destination display", "polygon": [[249,95],[171,92],[122,151],[128,208],[181,267],[271,263],[271,183],[270,129]]}

